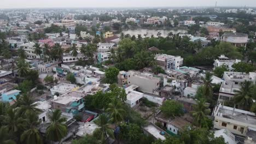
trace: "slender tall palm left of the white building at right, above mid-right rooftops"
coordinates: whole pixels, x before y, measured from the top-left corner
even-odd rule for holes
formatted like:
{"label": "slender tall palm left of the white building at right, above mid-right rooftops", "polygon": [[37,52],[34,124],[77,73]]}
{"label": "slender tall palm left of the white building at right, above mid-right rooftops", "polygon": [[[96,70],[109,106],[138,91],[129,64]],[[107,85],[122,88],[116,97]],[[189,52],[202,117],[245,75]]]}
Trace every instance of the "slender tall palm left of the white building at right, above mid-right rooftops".
{"label": "slender tall palm left of the white building at right, above mid-right rooftops", "polygon": [[203,96],[207,99],[212,97],[212,75],[210,72],[205,73],[205,77],[202,77],[203,81]]}

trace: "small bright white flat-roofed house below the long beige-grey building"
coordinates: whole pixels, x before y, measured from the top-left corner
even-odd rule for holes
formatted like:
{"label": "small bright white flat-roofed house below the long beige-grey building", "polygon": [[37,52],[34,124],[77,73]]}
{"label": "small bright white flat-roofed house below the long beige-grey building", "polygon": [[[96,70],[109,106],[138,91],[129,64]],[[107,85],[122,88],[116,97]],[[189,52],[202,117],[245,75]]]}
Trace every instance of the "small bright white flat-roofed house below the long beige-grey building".
{"label": "small bright white flat-roofed house below the long beige-grey building", "polygon": [[136,88],[138,88],[136,85],[131,85],[130,87],[125,88],[125,92],[127,94],[125,103],[130,107],[139,104],[139,100],[143,98],[143,93],[134,91]]}

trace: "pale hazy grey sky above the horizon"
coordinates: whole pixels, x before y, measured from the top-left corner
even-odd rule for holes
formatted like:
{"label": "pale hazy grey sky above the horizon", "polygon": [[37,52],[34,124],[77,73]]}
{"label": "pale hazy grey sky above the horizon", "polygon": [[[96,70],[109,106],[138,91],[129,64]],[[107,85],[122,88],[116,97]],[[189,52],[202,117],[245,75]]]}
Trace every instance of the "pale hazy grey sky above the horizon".
{"label": "pale hazy grey sky above the horizon", "polygon": [[[196,7],[216,0],[0,0],[0,8]],[[218,6],[256,7],[256,0],[217,0]]]}

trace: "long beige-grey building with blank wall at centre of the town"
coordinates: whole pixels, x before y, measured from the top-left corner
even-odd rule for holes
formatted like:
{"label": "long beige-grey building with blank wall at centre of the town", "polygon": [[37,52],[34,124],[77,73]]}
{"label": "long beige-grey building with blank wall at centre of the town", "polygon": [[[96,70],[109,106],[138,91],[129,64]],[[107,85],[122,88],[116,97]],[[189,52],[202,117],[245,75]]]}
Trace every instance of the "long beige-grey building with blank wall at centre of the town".
{"label": "long beige-grey building with blank wall at centre of the town", "polygon": [[159,94],[159,77],[154,77],[152,74],[140,73],[139,71],[134,70],[128,71],[127,76],[128,85],[137,85],[139,86],[138,90],[145,93]]}

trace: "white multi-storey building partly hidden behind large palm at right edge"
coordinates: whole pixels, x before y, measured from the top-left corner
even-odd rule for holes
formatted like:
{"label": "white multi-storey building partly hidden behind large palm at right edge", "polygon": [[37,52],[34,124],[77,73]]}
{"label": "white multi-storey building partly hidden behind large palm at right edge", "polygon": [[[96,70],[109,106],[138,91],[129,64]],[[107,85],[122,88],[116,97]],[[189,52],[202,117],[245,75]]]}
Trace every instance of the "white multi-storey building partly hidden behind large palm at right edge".
{"label": "white multi-storey building partly hidden behind large palm at right edge", "polygon": [[223,75],[224,82],[219,89],[219,98],[218,103],[223,103],[223,101],[229,101],[235,95],[235,90],[239,90],[241,88],[241,84],[245,81],[252,81],[252,83],[256,82],[256,73],[250,72],[249,74],[241,73],[241,72],[232,72],[225,71]]}

